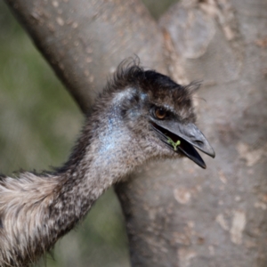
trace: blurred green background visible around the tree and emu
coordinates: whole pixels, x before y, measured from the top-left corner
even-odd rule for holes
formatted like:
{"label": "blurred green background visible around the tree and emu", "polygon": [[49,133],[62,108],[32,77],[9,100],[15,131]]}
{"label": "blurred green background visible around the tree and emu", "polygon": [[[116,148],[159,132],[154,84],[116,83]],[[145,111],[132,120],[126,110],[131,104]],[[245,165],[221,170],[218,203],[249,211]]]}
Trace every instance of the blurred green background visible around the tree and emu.
{"label": "blurred green background visible around the tree and emu", "polygon": [[[174,0],[144,0],[158,19]],[[83,124],[83,114],[0,2],[0,173],[61,166]],[[125,224],[108,190],[85,221],[36,266],[130,266]]]}

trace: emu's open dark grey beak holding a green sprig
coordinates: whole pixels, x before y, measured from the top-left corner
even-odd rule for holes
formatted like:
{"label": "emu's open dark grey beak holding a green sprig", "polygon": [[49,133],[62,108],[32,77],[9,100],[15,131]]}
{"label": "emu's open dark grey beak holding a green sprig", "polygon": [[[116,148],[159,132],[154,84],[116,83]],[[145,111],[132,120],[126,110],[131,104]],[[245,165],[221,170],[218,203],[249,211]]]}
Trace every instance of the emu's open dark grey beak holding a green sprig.
{"label": "emu's open dark grey beak holding a green sprig", "polygon": [[175,152],[182,152],[185,156],[194,161],[198,166],[206,168],[204,160],[198,154],[197,148],[206,155],[214,158],[215,152],[207,142],[204,134],[192,123],[183,125],[174,121],[153,121],[153,128],[159,134],[160,139],[171,147]]}

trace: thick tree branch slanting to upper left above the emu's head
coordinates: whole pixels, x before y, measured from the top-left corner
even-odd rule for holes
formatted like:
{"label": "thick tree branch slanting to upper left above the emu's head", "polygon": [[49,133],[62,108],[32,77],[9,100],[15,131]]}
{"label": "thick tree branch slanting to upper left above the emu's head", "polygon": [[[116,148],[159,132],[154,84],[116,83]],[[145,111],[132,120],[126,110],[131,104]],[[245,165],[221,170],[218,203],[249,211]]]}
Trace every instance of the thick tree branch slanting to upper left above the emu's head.
{"label": "thick tree branch slanting to upper left above the emu's head", "polygon": [[84,112],[125,58],[137,54],[144,66],[165,70],[163,37],[138,1],[6,3]]}

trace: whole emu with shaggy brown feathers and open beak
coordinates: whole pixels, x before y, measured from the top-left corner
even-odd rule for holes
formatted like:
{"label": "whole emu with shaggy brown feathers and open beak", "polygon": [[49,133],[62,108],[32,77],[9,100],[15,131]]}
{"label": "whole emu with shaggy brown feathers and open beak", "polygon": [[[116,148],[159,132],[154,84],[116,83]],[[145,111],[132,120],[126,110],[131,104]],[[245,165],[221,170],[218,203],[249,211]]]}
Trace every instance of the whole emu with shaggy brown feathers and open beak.
{"label": "whole emu with shaggy brown feathers and open beak", "polygon": [[213,158],[214,150],[195,125],[192,87],[139,64],[118,67],[64,166],[1,178],[0,265],[36,262],[105,190],[150,159],[186,156],[206,168],[195,148]]}

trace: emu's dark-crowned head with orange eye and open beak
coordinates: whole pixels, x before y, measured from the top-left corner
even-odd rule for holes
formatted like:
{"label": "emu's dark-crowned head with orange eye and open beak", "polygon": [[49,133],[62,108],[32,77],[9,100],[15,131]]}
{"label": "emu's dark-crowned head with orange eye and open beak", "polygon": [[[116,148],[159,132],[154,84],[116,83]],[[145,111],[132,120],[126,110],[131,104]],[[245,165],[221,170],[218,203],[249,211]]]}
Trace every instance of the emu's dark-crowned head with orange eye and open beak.
{"label": "emu's dark-crowned head with orange eye and open beak", "polygon": [[[203,151],[214,158],[214,150],[195,125],[193,87],[176,84],[170,77],[139,66],[120,67],[109,82],[109,107],[123,121],[131,140],[147,158],[188,157],[206,168],[199,156]],[[130,141],[131,142],[131,141]]]}

